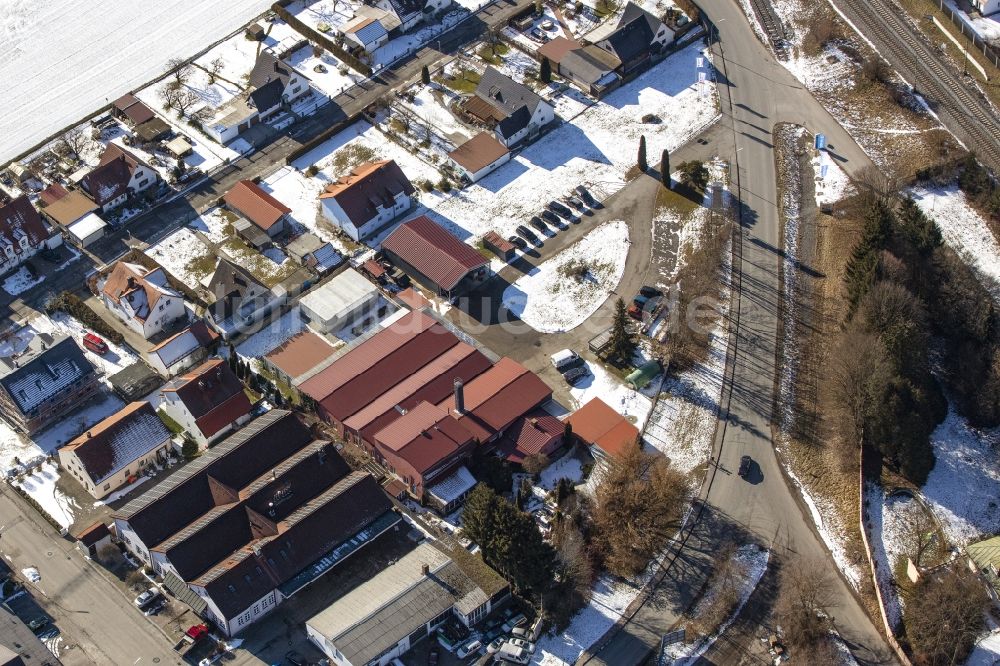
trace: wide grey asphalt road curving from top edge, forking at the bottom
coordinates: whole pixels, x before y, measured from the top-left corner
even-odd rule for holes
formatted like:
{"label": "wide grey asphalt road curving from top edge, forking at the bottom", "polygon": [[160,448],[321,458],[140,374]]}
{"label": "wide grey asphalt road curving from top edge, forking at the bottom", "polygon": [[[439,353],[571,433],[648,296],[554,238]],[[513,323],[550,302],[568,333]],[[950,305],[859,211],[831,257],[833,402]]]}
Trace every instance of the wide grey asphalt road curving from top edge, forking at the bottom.
{"label": "wide grey asphalt road curving from top edge, forking at the bottom", "polygon": [[[705,511],[690,535],[672,554],[665,580],[634,617],[610,636],[596,654],[579,663],[637,664],[657,649],[686,604],[706,579],[721,541],[734,534],[772,548],[772,563],[787,555],[821,562],[836,571],[816,534],[798,492],[783,475],[771,437],[775,397],[776,341],[781,298],[781,225],[771,136],[777,123],[797,123],[826,134],[831,156],[848,172],[871,164],[846,131],[802,88],[754,36],[734,0],[702,0],[721,38],[715,44],[720,70],[723,122],[734,136],[738,171],[733,174],[743,204],[741,270],[734,272],[727,382],[716,432],[715,459]],[[749,455],[755,466],[750,482],[735,470]],[[876,626],[844,580],[834,577],[835,625],[860,663],[892,663]],[[711,655],[709,655],[711,656]]]}

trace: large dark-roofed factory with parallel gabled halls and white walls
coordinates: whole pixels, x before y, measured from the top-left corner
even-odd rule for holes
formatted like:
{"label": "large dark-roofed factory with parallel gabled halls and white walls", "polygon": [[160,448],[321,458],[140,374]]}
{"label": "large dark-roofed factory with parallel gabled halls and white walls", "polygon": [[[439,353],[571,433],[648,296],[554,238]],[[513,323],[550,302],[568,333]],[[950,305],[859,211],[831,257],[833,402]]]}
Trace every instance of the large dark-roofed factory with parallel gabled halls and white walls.
{"label": "large dark-roofed factory with parallel gabled halls and white walls", "polygon": [[113,518],[125,547],[228,636],[400,522],[371,475],[352,472],[283,410],[251,421]]}

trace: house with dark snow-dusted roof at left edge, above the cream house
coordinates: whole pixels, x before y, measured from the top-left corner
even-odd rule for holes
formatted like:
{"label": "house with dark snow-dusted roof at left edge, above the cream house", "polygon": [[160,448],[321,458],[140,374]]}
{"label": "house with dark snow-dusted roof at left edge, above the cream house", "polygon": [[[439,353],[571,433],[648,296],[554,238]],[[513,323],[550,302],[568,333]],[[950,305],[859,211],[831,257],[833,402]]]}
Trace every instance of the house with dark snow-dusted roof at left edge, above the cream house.
{"label": "house with dark snow-dusted roof at left edge, above the cream house", "polygon": [[76,342],[24,326],[0,344],[0,415],[33,435],[97,395],[94,366]]}

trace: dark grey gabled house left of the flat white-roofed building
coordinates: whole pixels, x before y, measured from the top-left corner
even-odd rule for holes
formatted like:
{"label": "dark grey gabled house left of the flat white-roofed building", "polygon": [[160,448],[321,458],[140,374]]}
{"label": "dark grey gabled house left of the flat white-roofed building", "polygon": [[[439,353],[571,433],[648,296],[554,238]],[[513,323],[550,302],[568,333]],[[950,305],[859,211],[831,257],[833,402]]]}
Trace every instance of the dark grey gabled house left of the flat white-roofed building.
{"label": "dark grey gabled house left of the flat white-roofed building", "polygon": [[284,296],[274,293],[245,268],[227,259],[219,259],[208,290],[215,301],[205,311],[206,319],[227,340],[285,302]]}

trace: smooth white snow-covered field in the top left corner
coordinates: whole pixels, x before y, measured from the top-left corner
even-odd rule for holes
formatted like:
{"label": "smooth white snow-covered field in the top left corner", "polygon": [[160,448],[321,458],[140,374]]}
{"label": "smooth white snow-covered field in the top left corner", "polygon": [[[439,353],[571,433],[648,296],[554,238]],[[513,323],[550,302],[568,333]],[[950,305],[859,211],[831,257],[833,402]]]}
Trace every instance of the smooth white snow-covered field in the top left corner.
{"label": "smooth white snow-covered field in the top left corner", "polygon": [[267,0],[0,3],[0,81],[7,83],[0,164],[269,6]]}

